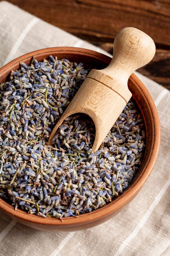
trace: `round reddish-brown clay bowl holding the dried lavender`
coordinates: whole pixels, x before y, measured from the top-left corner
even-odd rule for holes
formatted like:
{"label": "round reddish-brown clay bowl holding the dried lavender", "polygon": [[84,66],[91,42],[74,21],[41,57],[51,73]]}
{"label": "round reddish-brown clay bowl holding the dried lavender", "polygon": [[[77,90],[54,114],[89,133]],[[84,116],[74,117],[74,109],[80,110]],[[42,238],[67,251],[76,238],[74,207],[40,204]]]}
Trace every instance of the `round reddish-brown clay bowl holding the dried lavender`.
{"label": "round reddish-brown clay bowl holding the dried lavender", "polygon": [[[90,69],[102,69],[111,61],[110,57],[87,49],[74,47],[54,47],[41,49],[16,58],[14,61],[11,61],[2,67],[0,69],[0,83],[7,79],[11,70],[19,69],[20,62],[29,64],[33,56],[40,61],[43,60],[43,58],[48,58],[51,54],[53,56],[57,56],[58,59],[68,58],[73,62],[83,62],[84,67],[88,67]],[[56,218],[42,218],[39,216],[30,215],[20,209],[15,211],[10,204],[2,199],[0,199],[0,209],[7,213],[7,215],[9,215],[11,218],[26,226],[52,232],[68,232],[88,229],[109,220],[119,213],[132,200],[132,198],[134,198],[148,179],[157,159],[160,146],[159,117],[155,104],[148,90],[137,78],[137,76],[135,76],[135,74],[130,76],[128,87],[132,92],[132,98],[137,103],[144,119],[146,130],[146,151],[137,175],[132,180],[128,189],[126,189],[119,196],[119,198],[96,211],[80,215],[78,218],[63,218],[63,222]]]}

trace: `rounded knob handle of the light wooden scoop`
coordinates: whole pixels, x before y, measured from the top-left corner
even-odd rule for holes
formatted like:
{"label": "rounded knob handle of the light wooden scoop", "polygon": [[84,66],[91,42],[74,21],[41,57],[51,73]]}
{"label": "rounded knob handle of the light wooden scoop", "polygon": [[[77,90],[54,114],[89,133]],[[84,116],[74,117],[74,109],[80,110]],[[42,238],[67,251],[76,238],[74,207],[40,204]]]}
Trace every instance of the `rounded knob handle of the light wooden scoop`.
{"label": "rounded knob handle of the light wooden scoop", "polygon": [[126,27],[116,35],[112,61],[101,71],[127,86],[129,76],[148,64],[154,55],[152,38],[139,29]]}

